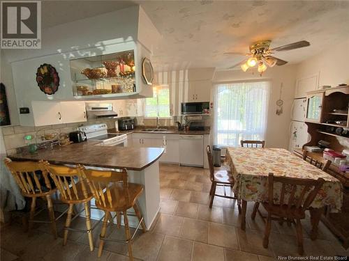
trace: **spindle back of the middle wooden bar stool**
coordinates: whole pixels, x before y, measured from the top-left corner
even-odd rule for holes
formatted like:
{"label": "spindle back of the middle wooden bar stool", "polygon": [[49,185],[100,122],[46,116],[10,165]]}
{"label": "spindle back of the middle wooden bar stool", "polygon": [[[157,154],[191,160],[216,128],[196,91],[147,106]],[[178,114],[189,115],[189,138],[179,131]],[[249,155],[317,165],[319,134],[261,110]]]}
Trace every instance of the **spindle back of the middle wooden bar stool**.
{"label": "spindle back of the middle wooden bar stool", "polygon": [[[78,165],[75,168],[57,166],[49,164],[47,161],[45,161],[44,164],[54,184],[56,184],[57,189],[61,193],[62,200],[83,200],[89,197],[86,183],[80,171],[82,166]],[[82,193],[79,193],[80,190]]]}

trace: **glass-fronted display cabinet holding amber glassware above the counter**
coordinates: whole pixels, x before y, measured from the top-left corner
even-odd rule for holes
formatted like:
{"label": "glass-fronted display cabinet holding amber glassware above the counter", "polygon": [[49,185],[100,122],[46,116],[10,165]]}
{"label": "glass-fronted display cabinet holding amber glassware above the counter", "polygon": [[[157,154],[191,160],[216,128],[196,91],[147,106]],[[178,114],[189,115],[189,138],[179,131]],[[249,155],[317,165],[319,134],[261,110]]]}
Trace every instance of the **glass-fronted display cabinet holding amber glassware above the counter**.
{"label": "glass-fronted display cabinet holding amber glassware above the counter", "polygon": [[136,93],[135,52],[70,60],[73,95],[81,98],[117,97]]}

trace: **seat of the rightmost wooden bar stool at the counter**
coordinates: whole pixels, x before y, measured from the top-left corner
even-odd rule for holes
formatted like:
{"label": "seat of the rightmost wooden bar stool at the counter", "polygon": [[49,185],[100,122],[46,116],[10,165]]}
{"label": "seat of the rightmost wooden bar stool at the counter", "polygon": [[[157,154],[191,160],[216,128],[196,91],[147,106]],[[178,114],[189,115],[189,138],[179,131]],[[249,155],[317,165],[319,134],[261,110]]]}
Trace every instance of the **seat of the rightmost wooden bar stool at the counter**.
{"label": "seat of the rightmost wooden bar stool at the counter", "polygon": [[[135,205],[135,200],[140,196],[143,187],[140,184],[128,183],[128,188],[124,188],[122,183],[114,183],[110,189],[111,200],[109,203],[98,203],[96,207],[109,212],[122,212]],[[128,198],[125,196],[128,194]],[[107,191],[104,192],[105,198],[108,198]]]}

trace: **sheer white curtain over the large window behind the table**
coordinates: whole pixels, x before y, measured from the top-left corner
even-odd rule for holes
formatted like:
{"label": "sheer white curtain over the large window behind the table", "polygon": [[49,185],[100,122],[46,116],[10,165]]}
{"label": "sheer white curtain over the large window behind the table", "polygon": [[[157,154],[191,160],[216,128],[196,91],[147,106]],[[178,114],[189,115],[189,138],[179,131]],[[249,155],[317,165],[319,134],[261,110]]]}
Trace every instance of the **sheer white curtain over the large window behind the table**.
{"label": "sheer white curtain over the large window behind the table", "polygon": [[238,147],[241,140],[265,140],[269,81],[216,84],[214,144]]}

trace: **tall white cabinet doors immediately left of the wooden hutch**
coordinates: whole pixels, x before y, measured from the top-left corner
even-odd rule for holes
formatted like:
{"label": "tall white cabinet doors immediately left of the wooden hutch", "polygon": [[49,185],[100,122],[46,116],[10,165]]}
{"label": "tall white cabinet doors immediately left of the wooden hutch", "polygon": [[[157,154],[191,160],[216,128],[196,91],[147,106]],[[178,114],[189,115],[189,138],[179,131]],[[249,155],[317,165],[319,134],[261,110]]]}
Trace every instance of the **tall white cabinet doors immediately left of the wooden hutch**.
{"label": "tall white cabinet doors immediately left of the wooden hutch", "polygon": [[290,143],[288,150],[293,152],[295,148],[302,146],[310,141],[308,126],[304,123],[306,118],[306,98],[293,100],[290,123]]}

